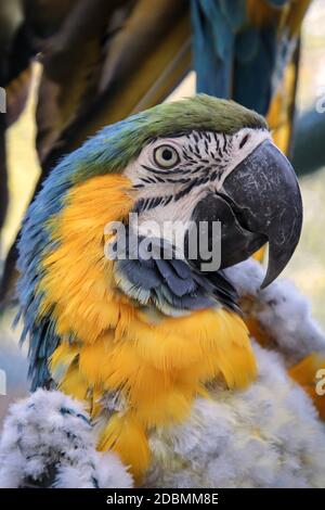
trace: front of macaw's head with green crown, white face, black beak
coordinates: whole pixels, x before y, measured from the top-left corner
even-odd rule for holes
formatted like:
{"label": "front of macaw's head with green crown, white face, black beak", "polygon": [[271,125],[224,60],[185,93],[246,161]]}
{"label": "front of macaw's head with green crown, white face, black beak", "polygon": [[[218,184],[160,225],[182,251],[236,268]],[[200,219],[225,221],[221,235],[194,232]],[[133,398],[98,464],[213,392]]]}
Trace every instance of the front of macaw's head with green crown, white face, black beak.
{"label": "front of macaw's head with green crown, white face, black beak", "polygon": [[[139,231],[156,238],[164,231],[174,243],[174,232],[164,225],[181,222],[180,251],[186,254],[193,221],[209,230],[218,220],[220,269],[269,242],[262,286],[271,283],[299,241],[302,204],[295,171],[264,119],[234,102],[200,94],[156,106],[135,124],[122,143],[136,153],[122,173],[132,183]],[[210,229],[209,250],[214,241]],[[196,267],[202,262],[199,251],[196,260],[188,259]]]}

